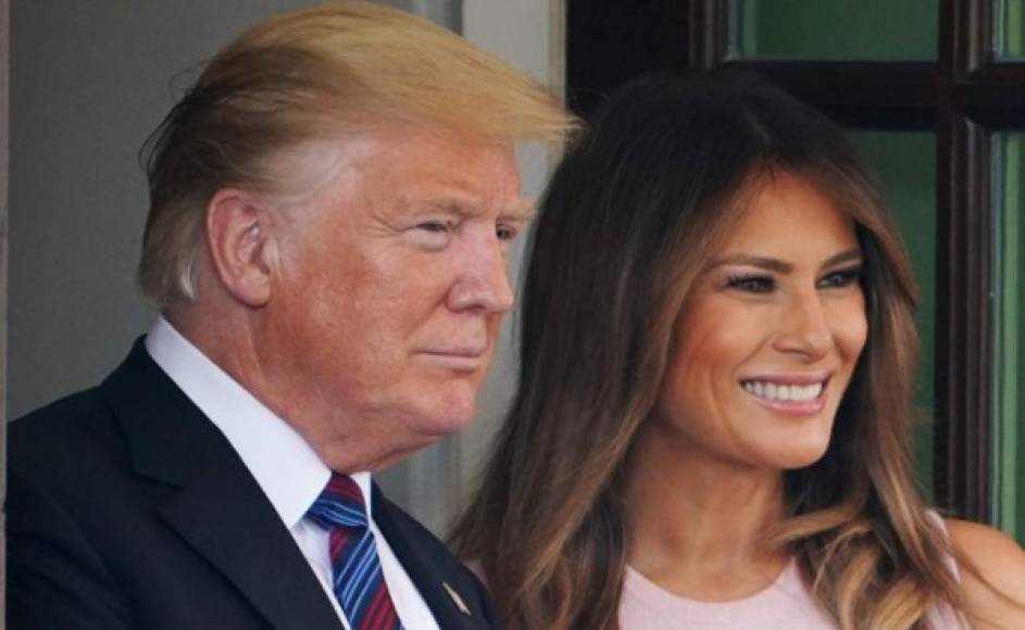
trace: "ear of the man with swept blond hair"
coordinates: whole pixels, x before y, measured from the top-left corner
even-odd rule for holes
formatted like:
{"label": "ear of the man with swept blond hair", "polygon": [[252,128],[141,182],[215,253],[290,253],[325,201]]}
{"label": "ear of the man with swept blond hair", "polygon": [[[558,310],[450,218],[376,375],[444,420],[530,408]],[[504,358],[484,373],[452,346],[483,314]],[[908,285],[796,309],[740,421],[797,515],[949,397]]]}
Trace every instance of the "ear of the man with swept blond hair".
{"label": "ear of the man with swept blond hair", "polygon": [[247,306],[271,299],[274,242],[270,215],[236,188],[218,190],[207,204],[207,244],[225,290]]}

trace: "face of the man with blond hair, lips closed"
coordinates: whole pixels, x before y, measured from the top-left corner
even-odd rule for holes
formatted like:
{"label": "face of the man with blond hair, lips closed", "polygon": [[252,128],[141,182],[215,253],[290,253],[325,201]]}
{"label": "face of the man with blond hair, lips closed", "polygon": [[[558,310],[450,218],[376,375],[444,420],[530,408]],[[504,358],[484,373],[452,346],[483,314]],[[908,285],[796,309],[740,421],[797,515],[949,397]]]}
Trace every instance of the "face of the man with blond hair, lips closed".
{"label": "face of the man with blond hair, lips closed", "polygon": [[258,349],[275,411],[334,467],[375,468],[465,426],[529,217],[512,147],[349,140],[330,181],[280,216]]}

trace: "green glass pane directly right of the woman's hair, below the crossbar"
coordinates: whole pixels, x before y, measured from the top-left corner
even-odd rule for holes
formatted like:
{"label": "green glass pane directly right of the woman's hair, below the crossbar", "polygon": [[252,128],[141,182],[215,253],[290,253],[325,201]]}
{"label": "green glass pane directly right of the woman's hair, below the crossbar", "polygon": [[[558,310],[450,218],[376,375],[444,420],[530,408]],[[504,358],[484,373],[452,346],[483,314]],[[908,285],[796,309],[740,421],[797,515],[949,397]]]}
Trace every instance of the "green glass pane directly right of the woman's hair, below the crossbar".
{"label": "green glass pane directly right of the woman's hair, below the crossbar", "polygon": [[890,216],[911,255],[921,301],[922,351],[915,385],[918,423],[914,455],[918,487],[933,499],[936,338],[936,136],[915,131],[855,131],[851,140],[883,187]]}

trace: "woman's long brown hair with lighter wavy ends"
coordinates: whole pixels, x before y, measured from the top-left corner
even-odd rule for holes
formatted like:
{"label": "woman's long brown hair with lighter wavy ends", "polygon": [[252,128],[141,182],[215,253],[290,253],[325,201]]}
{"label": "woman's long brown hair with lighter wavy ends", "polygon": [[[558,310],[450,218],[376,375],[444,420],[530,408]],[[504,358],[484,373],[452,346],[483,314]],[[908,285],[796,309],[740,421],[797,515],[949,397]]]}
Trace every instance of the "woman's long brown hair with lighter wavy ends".
{"label": "woman's long brown hair with lighter wavy ends", "polygon": [[546,192],[518,390],[452,536],[509,630],[618,627],[624,477],[673,324],[745,192],[779,173],[854,220],[868,340],[827,452],[785,474],[774,544],[843,629],[926,628],[937,603],[960,606],[949,544],[912,480],[915,289],[876,186],[837,127],[771,86],[651,77],[607,103]]}

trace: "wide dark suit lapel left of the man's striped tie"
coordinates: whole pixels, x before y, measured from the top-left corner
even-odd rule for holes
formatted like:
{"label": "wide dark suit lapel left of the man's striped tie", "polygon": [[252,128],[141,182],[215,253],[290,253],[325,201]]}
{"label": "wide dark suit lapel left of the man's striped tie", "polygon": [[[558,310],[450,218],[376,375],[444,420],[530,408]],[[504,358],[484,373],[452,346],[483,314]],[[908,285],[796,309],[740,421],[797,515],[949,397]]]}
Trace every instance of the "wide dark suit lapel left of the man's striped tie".
{"label": "wide dark suit lapel left of the man's striped tie", "polygon": [[235,450],[141,339],[103,383],[140,475],[179,487],[165,522],[278,630],[340,630],[327,594]]}

